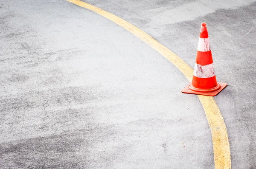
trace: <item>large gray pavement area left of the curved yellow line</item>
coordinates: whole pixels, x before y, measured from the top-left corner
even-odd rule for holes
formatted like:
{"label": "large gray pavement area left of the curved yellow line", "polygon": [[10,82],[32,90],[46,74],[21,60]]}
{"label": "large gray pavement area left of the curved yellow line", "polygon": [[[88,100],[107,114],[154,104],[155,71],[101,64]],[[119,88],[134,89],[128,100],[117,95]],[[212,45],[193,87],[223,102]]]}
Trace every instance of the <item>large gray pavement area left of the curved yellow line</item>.
{"label": "large gray pavement area left of the curved yellow line", "polygon": [[197,96],[140,39],[66,1],[1,16],[0,168],[214,168]]}

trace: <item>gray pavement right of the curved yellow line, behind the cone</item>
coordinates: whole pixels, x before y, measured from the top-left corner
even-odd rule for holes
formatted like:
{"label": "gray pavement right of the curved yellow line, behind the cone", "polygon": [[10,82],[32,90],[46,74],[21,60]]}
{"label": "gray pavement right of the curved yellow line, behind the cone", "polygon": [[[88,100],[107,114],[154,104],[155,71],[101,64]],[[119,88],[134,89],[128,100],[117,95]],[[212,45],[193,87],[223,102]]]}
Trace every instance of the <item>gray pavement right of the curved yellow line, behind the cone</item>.
{"label": "gray pavement right of the curved yellow line, behind the cone", "polygon": [[192,68],[200,23],[206,22],[217,80],[228,84],[215,100],[227,126],[232,168],[256,168],[255,0],[86,2],[143,29]]}

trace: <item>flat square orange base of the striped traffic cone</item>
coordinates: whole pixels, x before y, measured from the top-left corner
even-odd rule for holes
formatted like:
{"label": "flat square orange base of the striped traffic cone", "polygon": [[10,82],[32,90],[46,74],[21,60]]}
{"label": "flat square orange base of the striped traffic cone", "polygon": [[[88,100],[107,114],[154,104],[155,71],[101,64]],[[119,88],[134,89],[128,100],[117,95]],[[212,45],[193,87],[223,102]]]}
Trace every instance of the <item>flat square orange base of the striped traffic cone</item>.
{"label": "flat square orange base of the striped traffic cone", "polygon": [[[223,90],[225,87],[227,87],[227,83],[221,83],[218,82],[217,88],[215,88],[216,90],[196,90],[194,87],[191,86],[191,83],[189,83],[189,85],[187,85],[183,90],[181,90],[182,93],[188,93],[188,94],[198,94],[198,95],[204,95],[204,96],[216,96],[218,93],[221,92],[221,90]],[[191,88],[193,88],[194,90],[191,90]]]}

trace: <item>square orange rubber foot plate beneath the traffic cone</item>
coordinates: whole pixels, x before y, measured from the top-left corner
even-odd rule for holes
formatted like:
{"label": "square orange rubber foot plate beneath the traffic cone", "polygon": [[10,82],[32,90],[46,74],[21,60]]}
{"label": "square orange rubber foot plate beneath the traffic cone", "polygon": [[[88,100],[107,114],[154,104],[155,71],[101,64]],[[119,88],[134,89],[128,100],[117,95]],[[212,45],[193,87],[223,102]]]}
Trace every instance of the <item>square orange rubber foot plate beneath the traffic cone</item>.
{"label": "square orange rubber foot plate beneath the traffic cone", "polygon": [[216,96],[218,93],[221,92],[221,90],[223,90],[225,87],[227,87],[227,83],[218,82],[218,84],[221,86],[218,90],[211,91],[211,92],[199,92],[199,91],[190,90],[189,85],[191,85],[191,83],[189,83],[189,85],[187,85],[183,90],[181,90],[181,92],[189,93],[189,94],[204,95],[204,96]]}

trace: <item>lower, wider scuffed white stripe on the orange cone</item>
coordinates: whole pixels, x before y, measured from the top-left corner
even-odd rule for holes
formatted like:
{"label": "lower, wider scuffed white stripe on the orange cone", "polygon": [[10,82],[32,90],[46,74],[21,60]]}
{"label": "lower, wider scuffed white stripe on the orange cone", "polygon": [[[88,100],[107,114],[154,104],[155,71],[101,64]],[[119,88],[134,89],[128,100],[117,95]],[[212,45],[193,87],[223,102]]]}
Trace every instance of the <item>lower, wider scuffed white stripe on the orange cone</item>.
{"label": "lower, wider scuffed white stripe on the orange cone", "polygon": [[195,63],[194,74],[195,77],[209,78],[215,76],[213,63],[209,65],[198,65]]}

